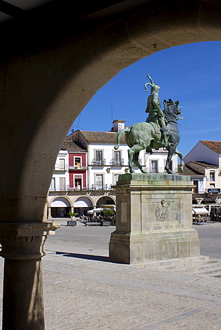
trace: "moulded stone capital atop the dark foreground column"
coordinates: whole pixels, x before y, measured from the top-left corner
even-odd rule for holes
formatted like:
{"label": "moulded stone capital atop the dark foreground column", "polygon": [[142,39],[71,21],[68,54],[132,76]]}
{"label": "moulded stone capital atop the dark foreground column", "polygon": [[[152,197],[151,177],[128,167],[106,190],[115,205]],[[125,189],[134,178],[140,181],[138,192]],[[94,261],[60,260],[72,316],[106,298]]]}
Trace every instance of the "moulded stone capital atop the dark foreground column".
{"label": "moulded stone capital atop the dark foreground column", "polygon": [[48,234],[60,228],[55,222],[0,223],[0,256],[12,260],[31,260],[45,256],[43,245]]}

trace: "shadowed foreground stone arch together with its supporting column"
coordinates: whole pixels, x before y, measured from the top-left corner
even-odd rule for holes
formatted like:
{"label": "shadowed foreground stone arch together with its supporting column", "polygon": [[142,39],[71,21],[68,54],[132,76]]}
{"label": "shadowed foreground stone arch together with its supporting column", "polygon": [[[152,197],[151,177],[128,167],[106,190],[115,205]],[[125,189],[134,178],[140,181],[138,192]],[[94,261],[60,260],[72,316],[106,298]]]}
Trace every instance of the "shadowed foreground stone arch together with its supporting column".
{"label": "shadowed foreground stone arch together with its supporting column", "polygon": [[[57,29],[53,34],[55,21],[47,42],[45,38],[41,41],[44,31],[38,31],[39,26],[33,27],[32,43],[25,43],[26,34],[19,35],[19,27],[3,31],[2,245],[13,235],[41,237],[47,232],[48,224],[42,221],[56,155],[72,122],[96,91],[121,69],[156,51],[185,43],[220,41],[220,18],[220,1],[134,0],[114,2],[78,21],[67,21],[58,35]],[[30,240],[23,241],[23,256],[9,245],[3,245],[1,252],[6,258],[3,329],[43,330],[43,252],[36,253],[33,259]],[[12,263],[12,259],[16,262]],[[21,278],[24,262],[29,267],[27,278]],[[34,282],[36,272],[39,276]],[[16,276],[10,278],[10,274]],[[25,296],[22,281],[32,283],[27,285]],[[31,299],[33,285],[39,305],[27,310],[23,307]],[[28,314],[36,317],[30,319]]]}

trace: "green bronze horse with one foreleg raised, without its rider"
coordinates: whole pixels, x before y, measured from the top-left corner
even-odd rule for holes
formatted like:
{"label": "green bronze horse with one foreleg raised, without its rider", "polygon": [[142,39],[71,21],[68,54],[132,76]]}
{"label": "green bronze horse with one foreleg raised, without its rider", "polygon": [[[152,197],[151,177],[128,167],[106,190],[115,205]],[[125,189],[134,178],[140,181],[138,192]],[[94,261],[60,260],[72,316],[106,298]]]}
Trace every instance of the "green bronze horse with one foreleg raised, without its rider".
{"label": "green bronze horse with one foreleg raised, without its rider", "polygon": [[[169,168],[169,163],[174,153],[180,157],[180,173],[183,172],[183,156],[180,151],[178,151],[177,146],[180,142],[180,134],[178,131],[177,120],[183,118],[183,115],[178,107],[179,102],[173,102],[171,99],[169,101],[164,101],[164,116],[167,122],[167,145],[165,148],[168,151],[167,161],[165,165],[165,170],[169,174],[174,174]],[[179,117],[181,115],[181,117]],[[162,142],[162,134],[160,132],[160,127],[156,122],[138,122],[128,129],[121,129],[117,135],[117,144],[114,146],[118,149],[120,146],[120,137],[125,133],[125,141],[129,146],[128,149],[128,164],[129,172],[134,173],[133,163],[140,168],[142,173],[147,173],[143,167],[138,162],[138,156],[141,150],[146,149],[148,153],[152,153],[152,148],[157,149],[164,146]]]}

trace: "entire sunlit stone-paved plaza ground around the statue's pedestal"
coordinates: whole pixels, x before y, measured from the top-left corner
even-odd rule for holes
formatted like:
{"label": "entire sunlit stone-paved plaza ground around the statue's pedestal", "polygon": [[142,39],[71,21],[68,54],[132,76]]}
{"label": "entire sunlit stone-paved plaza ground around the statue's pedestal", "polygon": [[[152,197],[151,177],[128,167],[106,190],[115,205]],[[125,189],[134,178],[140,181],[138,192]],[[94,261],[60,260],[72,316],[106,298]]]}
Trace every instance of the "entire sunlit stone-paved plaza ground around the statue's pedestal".
{"label": "entire sunlit stone-paved plaza ground around the statue's pedestal", "polygon": [[192,258],[187,267],[180,261],[110,263],[113,226],[66,222],[48,236],[42,259],[46,330],[220,329],[221,278],[214,276],[221,275],[221,260],[213,261],[221,256],[221,223],[194,226],[201,254],[210,259]]}

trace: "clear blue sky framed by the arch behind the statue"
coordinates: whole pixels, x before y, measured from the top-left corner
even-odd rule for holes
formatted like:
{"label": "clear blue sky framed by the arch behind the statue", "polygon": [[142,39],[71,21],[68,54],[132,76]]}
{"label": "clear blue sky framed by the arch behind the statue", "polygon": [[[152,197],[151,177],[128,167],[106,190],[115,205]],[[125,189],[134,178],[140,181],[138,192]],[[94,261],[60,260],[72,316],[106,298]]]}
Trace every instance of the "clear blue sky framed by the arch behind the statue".
{"label": "clear blue sky framed by the arch behind the statue", "polygon": [[221,42],[172,47],[123,69],[90,100],[72,129],[109,131],[112,119],[125,125],[145,122],[144,85],[160,85],[159,97],[179,100],[184,120],[179,120],[179,151],[185,156],[199,140],[221,140]]}

